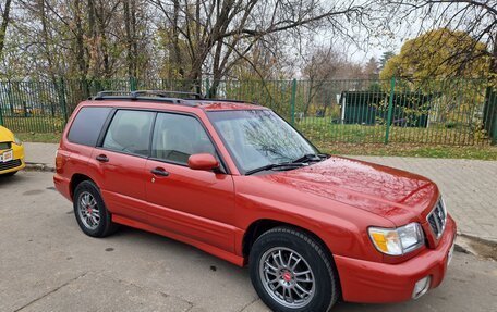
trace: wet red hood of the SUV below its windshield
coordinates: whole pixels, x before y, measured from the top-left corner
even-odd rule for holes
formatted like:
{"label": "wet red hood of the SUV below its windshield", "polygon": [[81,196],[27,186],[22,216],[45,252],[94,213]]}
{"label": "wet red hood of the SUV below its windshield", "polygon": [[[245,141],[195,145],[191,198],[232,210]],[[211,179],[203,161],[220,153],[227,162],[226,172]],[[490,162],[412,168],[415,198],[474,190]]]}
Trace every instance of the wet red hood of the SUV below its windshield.
{"label": "wet red hood of the SUV below its windshield", "polygon": [[424,222],[439,196],[437,186],[423,176],[339,157],[257,177],[366,210],[396,225]]}

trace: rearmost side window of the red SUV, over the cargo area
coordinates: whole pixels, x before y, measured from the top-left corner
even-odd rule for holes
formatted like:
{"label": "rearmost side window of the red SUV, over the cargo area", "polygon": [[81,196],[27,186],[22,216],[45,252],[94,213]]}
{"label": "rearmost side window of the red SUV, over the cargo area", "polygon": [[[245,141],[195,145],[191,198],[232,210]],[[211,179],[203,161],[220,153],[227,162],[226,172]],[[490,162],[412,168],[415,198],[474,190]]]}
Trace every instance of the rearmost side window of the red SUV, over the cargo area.
{"label": "rearmost side window of the red SUV, over the cargo area", "polygon": [[71,125],[68,140],[73,143],[95,147],[110,110],[111,108],[82,108]]}

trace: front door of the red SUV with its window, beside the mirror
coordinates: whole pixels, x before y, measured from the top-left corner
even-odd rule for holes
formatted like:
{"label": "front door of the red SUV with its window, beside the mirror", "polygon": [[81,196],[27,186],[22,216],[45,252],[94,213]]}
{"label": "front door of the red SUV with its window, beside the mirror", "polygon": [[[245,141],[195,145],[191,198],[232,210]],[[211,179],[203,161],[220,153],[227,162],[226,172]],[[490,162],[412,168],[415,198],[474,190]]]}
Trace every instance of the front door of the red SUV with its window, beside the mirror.
{"label": "front door of the red SUV with its window, beside the mirror", "polygon": [[149,222],[233,252],[233,179],[226,173],[190,169],[187,160],[194,153],[218,157],[202,123],[192,115],[158,113],[146,163]]}

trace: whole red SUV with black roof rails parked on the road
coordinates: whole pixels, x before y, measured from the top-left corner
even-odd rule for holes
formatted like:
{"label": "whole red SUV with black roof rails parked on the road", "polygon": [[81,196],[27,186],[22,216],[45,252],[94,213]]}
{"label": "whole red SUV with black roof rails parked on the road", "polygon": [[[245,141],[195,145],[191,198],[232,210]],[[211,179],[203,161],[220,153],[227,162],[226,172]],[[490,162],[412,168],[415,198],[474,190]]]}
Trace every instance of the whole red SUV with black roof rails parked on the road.
{"label": "whole red SUV with black roof rails parked on the road", "polygon": [[275,311],[415,299],[441,283],[456,224],[433,182],[322,154],[267,108],[173,93],[76,108],[53,180],[85,234],[123,224],[248,264]]}

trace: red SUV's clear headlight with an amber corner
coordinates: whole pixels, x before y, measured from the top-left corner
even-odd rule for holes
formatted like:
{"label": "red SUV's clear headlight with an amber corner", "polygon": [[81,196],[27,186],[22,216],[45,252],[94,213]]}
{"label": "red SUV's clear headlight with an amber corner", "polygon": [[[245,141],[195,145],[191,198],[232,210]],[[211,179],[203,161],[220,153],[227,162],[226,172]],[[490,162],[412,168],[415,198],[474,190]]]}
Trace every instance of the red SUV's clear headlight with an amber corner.
{"label": "red SUV's clear headlight with an amber corner", "polygon": [[402,255],[424,244],[421,225],[416,222],[398,228],[369,227],[369,237],[378,251],[389,255]]}

